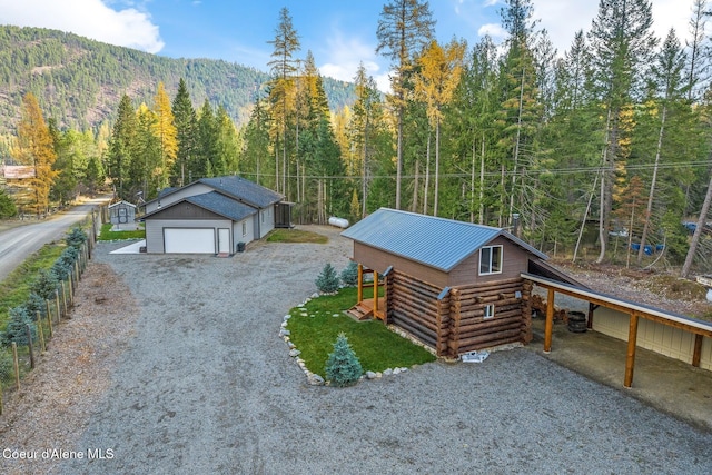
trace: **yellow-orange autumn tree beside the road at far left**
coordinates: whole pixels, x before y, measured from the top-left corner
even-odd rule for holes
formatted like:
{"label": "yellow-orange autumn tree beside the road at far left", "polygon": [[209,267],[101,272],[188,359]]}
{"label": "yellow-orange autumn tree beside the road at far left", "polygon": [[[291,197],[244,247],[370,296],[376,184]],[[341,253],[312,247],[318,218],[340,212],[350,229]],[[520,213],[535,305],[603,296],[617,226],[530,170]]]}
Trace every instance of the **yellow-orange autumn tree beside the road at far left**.
{"label": "yellow-orange autumn tree beside the road at far left", "polygon": [[39,102],[32,92],[22,98],[21,119],[18,123],[17,147],[11,151],[20,164],[31,166],[34,176],[30,179],[30,207],[39,215],[49,210],[49,192],[59,176],[52,169],[57,152],[49,127],[44,122]]}

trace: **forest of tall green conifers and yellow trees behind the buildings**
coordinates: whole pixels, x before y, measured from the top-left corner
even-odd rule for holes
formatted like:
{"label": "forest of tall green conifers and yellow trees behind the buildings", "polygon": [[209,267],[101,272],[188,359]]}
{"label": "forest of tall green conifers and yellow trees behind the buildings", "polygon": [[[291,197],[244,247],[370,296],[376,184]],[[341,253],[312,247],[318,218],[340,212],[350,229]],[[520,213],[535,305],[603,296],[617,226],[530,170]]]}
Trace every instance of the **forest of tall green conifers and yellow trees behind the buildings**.
{"label": "forest of tall green conifers and yellow trees behind the buildings", "polygon": [[[27,151],[22,125],[41,108],[56,171],[46,174],[48,199],[110,184],[136,202],[164,187],[238,174],[294,201],[298,222],[353,221],[384,206],[497,227],[516,218],[522,237],[545,253],[593,248],[604,260],[617,246],[640,244],[642,261],[652,245],[664,248],[664,263],[684,261],[689,270],[696,256],[698,269],[710,269],[712,239],[703,226],[712,185],[708,0],[690,0],[689,30],[665,38],[653,32],[650,1],[601,0],[590,29],[566,51],[554,50],[537,27],[531,0],[504,3],[502,44],[487,37],[439,43],[426,1],[384,3],[374,33],[377,52],[392,60],[387,92],[362,66],[343,96],[350,100],[335,101],[283,9],[269,41],[269,73],[263,81],[251,71],[244,81],[249,93],[229,92],[244,95],[243,119],[234,100],[171,69],[176,60],[140,53],[152,93],[132,96],[130,76],[102,89],[120,100],[100,125],[87,116],[72,122],[67,111],[93,106],[53,101],[51,88],[30,81],[21,118],[7,103],[0,111],[16,123],[3,155],[38,161]],[[0,31],[7,38],[42,30]],[[59,57],[48,47],[24,61],[40,71],[39,80],[82,41],[56,39],[51,51]],[[121,55],[138,53],[102,46],[92,61],[107,65],[105,79],[77,70],[62,83],[103,88],[109,77],[121,77],[110,72]],[[12,82],[9,65],[22,60],[13,58],[0,58],[2,83]],[[207,65],[218,68],[210,73],[216,82],[235,68]],[[698,229],[692,240],[695,226],[686,221]]]}

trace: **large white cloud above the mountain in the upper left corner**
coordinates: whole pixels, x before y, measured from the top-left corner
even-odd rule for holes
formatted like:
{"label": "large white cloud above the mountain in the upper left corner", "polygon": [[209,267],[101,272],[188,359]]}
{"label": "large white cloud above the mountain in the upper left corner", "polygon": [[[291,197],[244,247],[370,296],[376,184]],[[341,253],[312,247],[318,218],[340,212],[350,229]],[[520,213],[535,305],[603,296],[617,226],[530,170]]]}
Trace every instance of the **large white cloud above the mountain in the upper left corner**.
{"label": "large white cloud above the mountain in the upper left corner", "polygon": [[148,13],[135,8],[113,10],[101,0],[0,0],[0,23],[70,31],[151,53],[164,48]]}

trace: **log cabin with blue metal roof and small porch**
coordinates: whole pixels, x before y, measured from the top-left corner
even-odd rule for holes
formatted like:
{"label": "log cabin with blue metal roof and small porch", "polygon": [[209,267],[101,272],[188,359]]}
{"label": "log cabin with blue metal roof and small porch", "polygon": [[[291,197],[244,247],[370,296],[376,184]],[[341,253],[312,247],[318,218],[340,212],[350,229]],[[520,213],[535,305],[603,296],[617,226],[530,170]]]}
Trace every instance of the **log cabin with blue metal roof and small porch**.
{"label": "log cabin with blue metal roof and small porch", "polygon": [[382,208],[342,236],[354,240],[359,276],[373,271],[385,287],[380,299],[362,301],[359,278],[356,314],[372,313],[441,356],[532,339],[532,284],[521,274],[531,261],[548,267],[547,257],[513,234]]}

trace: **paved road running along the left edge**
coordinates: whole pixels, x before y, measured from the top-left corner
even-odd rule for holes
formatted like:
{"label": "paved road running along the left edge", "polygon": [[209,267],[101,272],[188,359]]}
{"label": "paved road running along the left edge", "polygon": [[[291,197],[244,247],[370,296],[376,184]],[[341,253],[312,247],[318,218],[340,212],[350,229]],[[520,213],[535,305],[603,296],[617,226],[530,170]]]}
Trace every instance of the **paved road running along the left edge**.
{"label": "paved road running along the left edge", "polygon": [[0,230],[0,281],[47,243],[61,239],[65,232],[85,219],[106,197],[87,201],[46,220]]}

